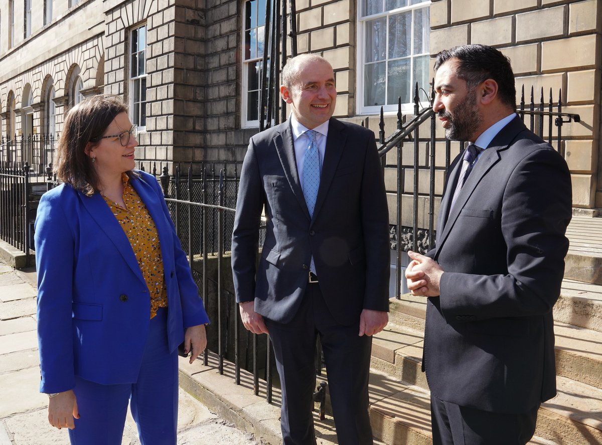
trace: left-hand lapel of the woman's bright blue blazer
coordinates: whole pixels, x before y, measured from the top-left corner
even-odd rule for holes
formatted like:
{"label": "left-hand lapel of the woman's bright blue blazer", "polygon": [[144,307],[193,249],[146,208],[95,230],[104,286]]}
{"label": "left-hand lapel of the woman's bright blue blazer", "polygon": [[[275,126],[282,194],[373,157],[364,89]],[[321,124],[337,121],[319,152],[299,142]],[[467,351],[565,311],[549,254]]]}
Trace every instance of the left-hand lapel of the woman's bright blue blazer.
{"label": "left-hand lapel of the woman's bright blue blazer", "polygon": [[116,217],[111,213],[111,208],[107,205],[104,198],[102,198],[102,195],[95,193],[92,196],[84,196],[84,194],[79,192],[79,198],[88,213],[90,213],[90,216],[96,220],[99,228],[107,234],[107,237],[122,255],[125,263],[144,282],[144,277],[140,272],[140,266],[138,266],[132,245],[129,243],[128,237]]}

